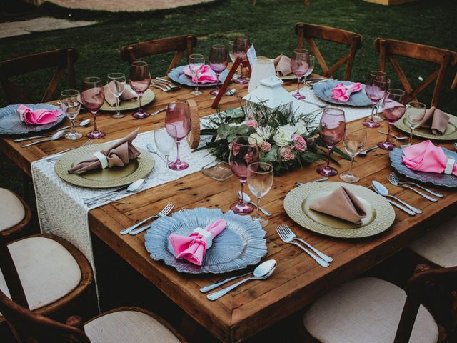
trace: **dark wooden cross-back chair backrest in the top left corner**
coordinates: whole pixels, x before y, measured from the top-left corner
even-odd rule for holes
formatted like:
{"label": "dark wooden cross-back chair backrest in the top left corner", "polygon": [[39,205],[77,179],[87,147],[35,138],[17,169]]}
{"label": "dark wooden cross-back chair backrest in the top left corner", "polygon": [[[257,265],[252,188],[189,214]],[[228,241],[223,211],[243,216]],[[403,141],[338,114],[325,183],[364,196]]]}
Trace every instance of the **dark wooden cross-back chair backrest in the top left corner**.
{"label": "dark wooden cross-back chair backrest in the top left corner", "polygon": [[56,66],[57,70],[52,76],[49,86],[41,98],[41,102],[50,101],[59,84],[59,79],[64,74],[65,69],[69,73],[69,86],[71,89],[76,88],[76,78],[74,72],[74,64],[78,59],[78,54],[74,48],[59,49],[53,51],[39,52],[27,56],[17,57],[16,59],[8,59],[0,61],[0,82],[6,93],[6,99],[10,104],[16,103],[16,99],[20,98],[31,103],[36,103],[26,92],[19,86],[16,86],[9,78],[46,69]]}

